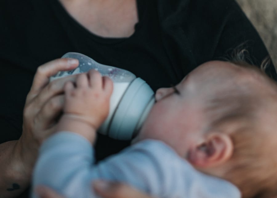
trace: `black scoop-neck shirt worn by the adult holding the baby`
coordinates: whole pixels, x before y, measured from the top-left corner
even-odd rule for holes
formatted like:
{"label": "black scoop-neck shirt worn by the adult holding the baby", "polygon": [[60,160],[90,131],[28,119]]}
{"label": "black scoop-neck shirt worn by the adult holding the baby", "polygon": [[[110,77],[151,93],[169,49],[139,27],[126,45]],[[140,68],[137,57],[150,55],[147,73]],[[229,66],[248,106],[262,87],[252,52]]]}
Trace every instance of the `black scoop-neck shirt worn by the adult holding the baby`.
{"label": "black scoop-neck shirt worn by the adult holding the baby", "polygon": [[[18,139],[37,67],[79,52],[126,69],[155,91],[176,84],[199,64],[222,59],[246,42],[256,65],[268,55],[234,0],[137,0],[139,22],[129,38],[102,38],[74,20],[58,0],[0,2],[0,143]],[[273,65],[268,68],[275,79]],[[98,135],[98,160],[129,142]]]}

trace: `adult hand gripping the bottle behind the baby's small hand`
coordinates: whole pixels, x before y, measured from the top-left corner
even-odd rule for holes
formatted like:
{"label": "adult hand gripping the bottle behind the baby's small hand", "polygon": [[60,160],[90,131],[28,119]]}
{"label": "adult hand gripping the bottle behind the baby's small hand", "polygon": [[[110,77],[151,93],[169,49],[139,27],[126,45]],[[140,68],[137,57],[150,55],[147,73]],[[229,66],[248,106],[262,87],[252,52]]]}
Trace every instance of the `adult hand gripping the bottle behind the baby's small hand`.
{"label": "adult hand gripping the bottle behind the baby's small hand", "polygon": [[77,59],[56,59],[38,67],[26,98],[23,131],[18,140],[22,163],[25,167],[32,168],[40,144],[55,131],[55,119],[63,107],[64,84],[76,78],[68,76],[49,83],[50,76],[58,71],[71,70],[77,66]]}

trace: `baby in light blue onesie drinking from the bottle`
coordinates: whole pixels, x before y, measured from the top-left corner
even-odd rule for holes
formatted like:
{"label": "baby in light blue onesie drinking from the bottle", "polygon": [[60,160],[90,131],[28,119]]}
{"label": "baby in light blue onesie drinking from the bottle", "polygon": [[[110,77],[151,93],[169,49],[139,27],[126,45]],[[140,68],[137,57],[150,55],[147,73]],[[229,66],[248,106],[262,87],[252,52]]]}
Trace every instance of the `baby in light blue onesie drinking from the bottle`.
{"label": "baby in light blue onesie drinking from the bottle", "polygon": [[276,195],[277,84],[259,68],[211,61],[160,88],[132,146],[95,165],[91,144],[111,92],[96,71],[65,85],[59,132],[41,147],[33,187],[95,197],[91,182],[100,178],[159,198]]}

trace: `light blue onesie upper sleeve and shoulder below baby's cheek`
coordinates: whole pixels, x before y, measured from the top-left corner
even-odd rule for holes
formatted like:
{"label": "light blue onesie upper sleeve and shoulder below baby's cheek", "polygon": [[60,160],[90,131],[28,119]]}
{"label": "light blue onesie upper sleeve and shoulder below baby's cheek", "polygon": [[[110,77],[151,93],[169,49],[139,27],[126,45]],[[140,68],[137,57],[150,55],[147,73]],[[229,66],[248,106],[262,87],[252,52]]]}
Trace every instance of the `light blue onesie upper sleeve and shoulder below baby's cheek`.
{"label": "light blue onesie upper sleeve and shoulder below baby's cheek", "polygon": [[95,177],[123,181],[159,198],[241,197],[235,185],[195,170],[159,140],[136,143],[96,168]]}

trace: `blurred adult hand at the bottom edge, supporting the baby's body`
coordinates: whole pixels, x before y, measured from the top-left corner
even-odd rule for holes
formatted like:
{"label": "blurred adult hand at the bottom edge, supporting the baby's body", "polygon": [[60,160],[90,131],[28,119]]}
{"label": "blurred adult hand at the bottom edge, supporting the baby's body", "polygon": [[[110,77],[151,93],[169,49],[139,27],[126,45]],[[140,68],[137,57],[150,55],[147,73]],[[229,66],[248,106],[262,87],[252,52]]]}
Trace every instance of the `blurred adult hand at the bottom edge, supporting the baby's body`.
{"label": "blurred adult hand at the bottom edge, supporting the baby's body", "polygon": [[[126,184],[117,182],[95,181],[93,188],[102,198],[153,198]],[[36,192],[40,198],[65,198],[45,186],[37,187]]]}

